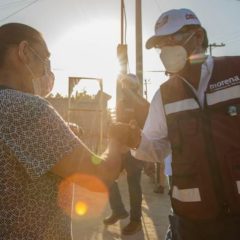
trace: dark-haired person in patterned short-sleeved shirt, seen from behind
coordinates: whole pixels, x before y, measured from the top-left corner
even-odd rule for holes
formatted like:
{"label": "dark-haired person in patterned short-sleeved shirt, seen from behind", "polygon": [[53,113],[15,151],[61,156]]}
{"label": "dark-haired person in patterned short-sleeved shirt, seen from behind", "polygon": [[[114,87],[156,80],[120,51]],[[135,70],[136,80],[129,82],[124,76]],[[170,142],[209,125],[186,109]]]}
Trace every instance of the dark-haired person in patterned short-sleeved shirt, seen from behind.
{"label": "dark-haired person in patterned short-sleeved shirt, seen from behind", "polygon": [[[93,190],[90,176],[109,184],[119,175],[120,145],[110,140],[104,158],[90,152],[42,98],[53,84],[43,36],[25,24],[2,25],[0,239],[72,239],[71,218],[61,207],[71,206],[71,192],[61,195],[62,183]],[[71,178],[81,174],[89,178]]]}

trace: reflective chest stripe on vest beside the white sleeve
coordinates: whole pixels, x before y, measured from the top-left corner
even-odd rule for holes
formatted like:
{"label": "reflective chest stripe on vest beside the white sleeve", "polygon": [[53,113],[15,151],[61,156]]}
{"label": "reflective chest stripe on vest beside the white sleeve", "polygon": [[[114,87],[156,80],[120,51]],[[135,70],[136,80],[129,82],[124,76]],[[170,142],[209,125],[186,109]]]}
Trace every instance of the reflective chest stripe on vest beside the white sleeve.
{"label": "reflective chest stripe on vest beside the white sleeve", "polygon": [[198,109],[199,105],[197,104],[194,98],[184,99],[181,101],[167,103],[164,105],[166,115],[176,112],[182,112],[186,110]]}

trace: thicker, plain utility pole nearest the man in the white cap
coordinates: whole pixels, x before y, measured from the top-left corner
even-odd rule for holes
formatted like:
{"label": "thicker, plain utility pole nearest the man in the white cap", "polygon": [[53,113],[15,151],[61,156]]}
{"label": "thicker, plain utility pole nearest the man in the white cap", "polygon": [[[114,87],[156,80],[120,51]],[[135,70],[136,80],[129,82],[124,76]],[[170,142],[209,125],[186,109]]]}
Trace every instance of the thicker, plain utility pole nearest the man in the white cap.
{"label": "thicker, plain utility pole nearest the man in the white cap", "polygon": [[142,59],[142,0],[136,0],[136,75],[140,81],[140,93],[143,95],[143,59]]}

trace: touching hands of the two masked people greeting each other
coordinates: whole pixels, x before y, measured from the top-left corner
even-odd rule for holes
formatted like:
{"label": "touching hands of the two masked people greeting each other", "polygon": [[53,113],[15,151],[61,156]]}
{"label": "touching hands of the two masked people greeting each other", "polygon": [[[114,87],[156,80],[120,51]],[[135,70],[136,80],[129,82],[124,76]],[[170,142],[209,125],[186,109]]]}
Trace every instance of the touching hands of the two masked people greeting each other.
{"label": "touching hands of the two masked people greeting each other", "polygon": [[110,139],[117,140],[121,145],[129,148],[137,148],[141,141],[141,129],[135,120],[129,123],[113,123],[108,135]]}

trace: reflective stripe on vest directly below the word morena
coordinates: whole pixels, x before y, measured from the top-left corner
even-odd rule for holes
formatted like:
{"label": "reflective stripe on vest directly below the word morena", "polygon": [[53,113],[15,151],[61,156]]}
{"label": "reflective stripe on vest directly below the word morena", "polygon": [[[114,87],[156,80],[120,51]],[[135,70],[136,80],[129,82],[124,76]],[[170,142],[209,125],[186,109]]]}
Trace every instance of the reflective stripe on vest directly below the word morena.
{"label": "reflective stripe on vest directly below the word morena", "polygon": [[207,104],[213,105],[219,102],[240,98],[240,85],[233,86],[227,89],[218,90],[214,93],[207,94]]}

